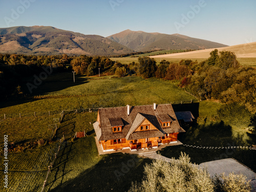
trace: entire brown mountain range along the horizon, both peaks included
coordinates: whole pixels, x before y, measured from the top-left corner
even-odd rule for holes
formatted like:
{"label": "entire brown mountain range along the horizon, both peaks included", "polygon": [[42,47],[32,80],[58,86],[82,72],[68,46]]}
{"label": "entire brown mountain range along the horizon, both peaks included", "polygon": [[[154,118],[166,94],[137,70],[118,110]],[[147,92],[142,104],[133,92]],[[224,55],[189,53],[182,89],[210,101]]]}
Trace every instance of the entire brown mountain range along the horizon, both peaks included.
{"label": "entire brown mountain range along the horizon, both peaks included", "polygon": [[50,26],[0,28],[0,53],[121,55],[159,49],[209,49],[226,47],[180,34],[125,30],[103,37],[84,35]]}

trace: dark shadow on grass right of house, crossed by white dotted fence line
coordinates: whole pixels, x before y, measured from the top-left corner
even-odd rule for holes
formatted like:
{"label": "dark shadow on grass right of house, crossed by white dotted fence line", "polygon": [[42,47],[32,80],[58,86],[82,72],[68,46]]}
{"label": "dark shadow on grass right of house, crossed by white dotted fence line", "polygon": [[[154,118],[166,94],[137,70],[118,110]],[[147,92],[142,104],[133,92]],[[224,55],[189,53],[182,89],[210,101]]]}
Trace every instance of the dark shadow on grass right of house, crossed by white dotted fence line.
{"label": "dark shadow on grass right of house, crossed by white dotted fence line", "polygon": [[[207,125],[195,125],[190,127],[186,133],[179,135],[179,140],[183,144],[194,146],[250,146],[251,142],[255,142],[255,136],[252,134],[246,140],[242,136],[233,136],[231,126],[226,125],[223,121]],[[254,163],[256,159],[255,150],[241,148],[206,149],[184,145],[168,146],[160,150],[161,155],[168,158],[179,158],[181,152],[185,152],[191,158],[191,162],[197,164],[218,159],[234,158],[254,171],[256,170]]]}

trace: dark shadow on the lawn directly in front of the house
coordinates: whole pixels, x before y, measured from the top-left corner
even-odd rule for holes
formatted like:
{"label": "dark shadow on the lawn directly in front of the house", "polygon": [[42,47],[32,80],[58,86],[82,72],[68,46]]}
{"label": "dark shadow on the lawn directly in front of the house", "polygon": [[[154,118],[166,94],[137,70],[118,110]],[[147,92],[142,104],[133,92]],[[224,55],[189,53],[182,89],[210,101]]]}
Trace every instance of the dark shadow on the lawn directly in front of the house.
{"label": "dark shadow on the lawn directly in front of the house", "polygon": [[151,159],[142,159],[135,155],[105,155],[92,168],[50,191],[127,191],[132,181],[141,181],[143,166],[151,162]]}

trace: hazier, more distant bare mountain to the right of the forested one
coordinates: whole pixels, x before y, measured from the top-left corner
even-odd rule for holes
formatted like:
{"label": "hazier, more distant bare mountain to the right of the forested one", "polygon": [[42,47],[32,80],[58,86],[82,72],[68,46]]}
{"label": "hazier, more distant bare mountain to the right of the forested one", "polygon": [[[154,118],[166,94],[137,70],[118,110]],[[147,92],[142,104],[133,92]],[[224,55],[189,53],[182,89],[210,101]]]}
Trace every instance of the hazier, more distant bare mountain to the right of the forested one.
{"label": "hazier, more distant bare mountain to the right of the forested one", "polygon": [[135,51],[149,51],[159,49],[200,50],[227,46],[217,42],[192,38],[180,34],[168,35],[131,30],[125,30],[120,33],[108,36],[107,38]]}

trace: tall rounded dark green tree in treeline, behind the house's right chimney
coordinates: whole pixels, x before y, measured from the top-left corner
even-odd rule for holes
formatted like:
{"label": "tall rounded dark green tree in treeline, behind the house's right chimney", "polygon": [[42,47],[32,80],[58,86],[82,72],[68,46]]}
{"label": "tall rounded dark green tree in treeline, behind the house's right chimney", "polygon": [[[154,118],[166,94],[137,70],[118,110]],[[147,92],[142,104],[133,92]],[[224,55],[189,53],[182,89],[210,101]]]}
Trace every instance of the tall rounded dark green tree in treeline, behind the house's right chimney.
{"label": "tall rounded dark green tree in treeline, behind the house's right chimney", "polygon": [[139,66],[138,66],[139,74],[143,78],[150,78],[150,77],[156,76],[157,66],[156,66],[156,60],[154,58],[139,57],[138,61],[139,61]]}

